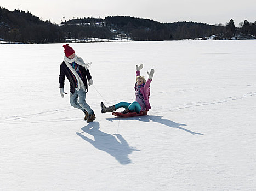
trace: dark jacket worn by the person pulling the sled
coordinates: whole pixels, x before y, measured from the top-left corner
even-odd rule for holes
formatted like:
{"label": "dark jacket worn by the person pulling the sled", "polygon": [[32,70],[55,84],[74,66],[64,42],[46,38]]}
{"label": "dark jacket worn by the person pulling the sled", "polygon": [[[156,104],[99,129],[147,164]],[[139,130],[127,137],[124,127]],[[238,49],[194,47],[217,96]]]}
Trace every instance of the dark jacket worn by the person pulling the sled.
{"label": "dark jacket worn by the person pulling the sled", "polygon": [[[90,75],[89,69],[86,70],[86,68],[82,67],[81,65],[79,66],[79,70],[81,71],[81,74],[83,76],[82,81],[84,83],[84,87],[86,87],[86,92],[87,92],[88,91],[87,79],[88,80],[92,79],[92,76]],[[75,93],[76,82],[75,80],[73,80],[73,77],[70,75],[70,69],[67,67],[67,65],[63,61],[62,64],[60,64],[60,77],[59,77],[60,88],[64,88],[65,76],[67,77],[70,83],[70,93],[72,94]]]}

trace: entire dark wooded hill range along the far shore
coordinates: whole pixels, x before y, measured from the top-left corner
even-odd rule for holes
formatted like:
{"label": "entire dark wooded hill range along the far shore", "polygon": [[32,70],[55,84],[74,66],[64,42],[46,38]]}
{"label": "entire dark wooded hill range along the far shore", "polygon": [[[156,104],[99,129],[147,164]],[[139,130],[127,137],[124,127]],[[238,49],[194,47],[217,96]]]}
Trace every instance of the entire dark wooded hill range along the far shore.
{"label": "entire dark wooded hill range along the far shore", "polygon": [[129,16],[109,16],[105,19],[87,17],[63,21],[60,25],[43,21],[29,11],[0,7],[0,39],[21,43],[60,43],[69,39],[116,39],[120,35],[135,41],[182,40],[207,38],[255,39],[256,22],[245,20],[235,27],[234,20],[223,25],[197,22],[160,23]]}

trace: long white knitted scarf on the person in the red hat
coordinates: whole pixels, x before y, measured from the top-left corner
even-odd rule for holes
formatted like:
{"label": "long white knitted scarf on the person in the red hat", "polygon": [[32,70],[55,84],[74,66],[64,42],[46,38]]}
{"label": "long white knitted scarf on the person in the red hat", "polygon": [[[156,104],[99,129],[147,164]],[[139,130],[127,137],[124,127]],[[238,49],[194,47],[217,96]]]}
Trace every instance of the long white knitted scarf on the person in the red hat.
{"label": "long white knitted scarf on the person in the red hat", "polygon": [[81,57],[78,57],[76,54],[75,54],[75,57],[73,59],[69,59],[65,55],[64,56],[64,62],[67,65],[67,67],[71,70],[73,75],[75,75],[75,77],[77,79],[78,84],[77,84],[76,90],[78,91],[82,87],[83,91],[86,92],[86,87],[84,87],[84,83],[81,80],[81,77],[77,74],[76,70],[70,65],[70,63],[76,62],[78,65],[81,65],[82,67],[86,68],[86,70],[88,70],[88,68],[90,67],[92,62],[84,63],[83,59]]}

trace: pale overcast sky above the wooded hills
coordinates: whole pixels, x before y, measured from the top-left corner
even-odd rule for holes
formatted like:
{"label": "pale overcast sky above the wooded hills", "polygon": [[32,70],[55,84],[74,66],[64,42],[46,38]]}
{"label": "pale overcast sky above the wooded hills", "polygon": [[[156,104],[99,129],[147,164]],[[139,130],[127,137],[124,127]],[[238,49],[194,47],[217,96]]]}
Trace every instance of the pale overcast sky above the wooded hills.
{"label": "pale overcast sky above the wooded hills", "polygon": [[[83,17],[133,16],[158,22],[194,21],[225,25],[234,19],[235,25],[256,21],[256,0],[0,0],[0,6],[10,11],[29,11],[42,20],[59,24],[61,20]],[[65,19],[63,19],[65,17]]]}

